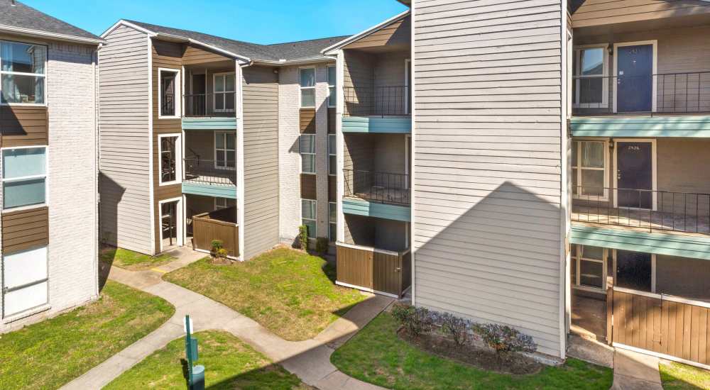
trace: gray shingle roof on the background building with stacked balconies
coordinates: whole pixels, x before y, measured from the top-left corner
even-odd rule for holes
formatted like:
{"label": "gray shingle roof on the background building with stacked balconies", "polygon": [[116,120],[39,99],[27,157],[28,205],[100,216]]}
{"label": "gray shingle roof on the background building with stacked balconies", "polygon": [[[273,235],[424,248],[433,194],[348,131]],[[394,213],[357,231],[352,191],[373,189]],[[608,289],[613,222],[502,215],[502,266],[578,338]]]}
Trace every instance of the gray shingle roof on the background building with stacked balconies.
{"label": "gray shingle roof on the background building with stacked balconies", "polygon": [[206,43],[207,45],[215,46],[222,50],[232,52],[236,55],[243,55],[244,57],[249,57],[251,60],[317,60],[323,58],[323,55],[320,52],[321,50],[349,36],[345,35],[332,38],[302,40],[299,42],[276,43],[273,45],[258,45],[256,43],[249,43],[241,40],[222,38],[216,35],[198,33],[197,31],[158,26],[155,24],[143,23],[138,21],[126,21],[129,23],[133,23],[136,26],[145,28],[146,30],[150,30],[153,33],[178,35],[183,38],[198,40],[202,43]]}

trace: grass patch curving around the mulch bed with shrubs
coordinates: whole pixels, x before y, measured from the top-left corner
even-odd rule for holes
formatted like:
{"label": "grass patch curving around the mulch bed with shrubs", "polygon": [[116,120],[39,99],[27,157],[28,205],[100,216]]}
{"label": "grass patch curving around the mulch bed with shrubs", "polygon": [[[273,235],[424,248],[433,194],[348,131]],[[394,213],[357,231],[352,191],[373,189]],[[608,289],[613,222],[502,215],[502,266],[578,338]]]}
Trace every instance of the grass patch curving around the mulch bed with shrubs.
{"label": "grass patch curving around the mulch bed with shrubs", "polygon": [[345,374],[390,389],[603,389],[613,372],[568,359],[560,367],[515,376],[437,357],[396,335],[398,324],[381,313],[334,352],[331,361]]}

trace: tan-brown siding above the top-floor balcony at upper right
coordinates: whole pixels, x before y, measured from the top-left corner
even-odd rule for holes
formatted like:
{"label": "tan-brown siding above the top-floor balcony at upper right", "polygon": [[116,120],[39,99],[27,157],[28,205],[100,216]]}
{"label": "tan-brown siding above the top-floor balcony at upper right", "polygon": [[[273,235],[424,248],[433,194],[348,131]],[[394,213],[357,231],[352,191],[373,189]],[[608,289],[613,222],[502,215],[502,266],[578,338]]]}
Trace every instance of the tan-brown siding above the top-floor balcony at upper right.
{"label": "tan-brown siding above the top-floor balcony at upper right", "polygon": [[572,15],[575,28],[710,12],[701,0],[587,0]]}

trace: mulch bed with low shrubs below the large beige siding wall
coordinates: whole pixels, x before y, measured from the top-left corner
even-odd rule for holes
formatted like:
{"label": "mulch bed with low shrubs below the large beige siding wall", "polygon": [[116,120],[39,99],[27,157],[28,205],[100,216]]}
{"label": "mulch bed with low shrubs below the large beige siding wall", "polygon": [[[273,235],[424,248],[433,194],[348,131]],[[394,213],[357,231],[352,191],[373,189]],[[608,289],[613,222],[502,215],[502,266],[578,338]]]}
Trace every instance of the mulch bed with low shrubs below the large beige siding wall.
{"label": "mulch bed with low shrubs below the large beige siding wall", "polygon": [[454,340],[436,333],[425,333],[418,337],[412,337],[403,328],[400,328],[397,333],[401,339],[422,350],[486,371],[528,375],[537,374],[543,367],[542,364],[519,353],[498,354],[489,348],[473,344],[457,345]]}

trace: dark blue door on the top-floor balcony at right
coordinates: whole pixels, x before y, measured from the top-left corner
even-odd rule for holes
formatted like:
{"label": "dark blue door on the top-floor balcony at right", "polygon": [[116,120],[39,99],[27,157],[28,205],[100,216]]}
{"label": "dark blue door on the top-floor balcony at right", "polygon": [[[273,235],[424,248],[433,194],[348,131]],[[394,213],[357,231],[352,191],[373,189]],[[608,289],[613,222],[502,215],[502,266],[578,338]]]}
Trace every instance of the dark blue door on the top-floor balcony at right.
{"label": "dark blue door on the top-floor balcony at right", "polygon": [[651,111],[653,45],[618,48],[616,70],[616,111]]}

